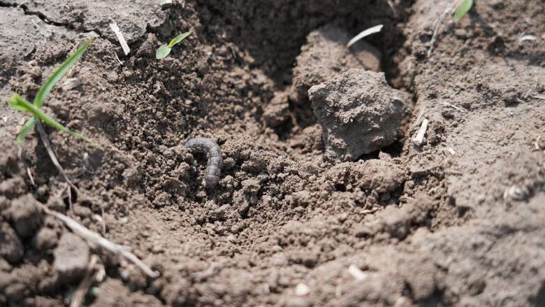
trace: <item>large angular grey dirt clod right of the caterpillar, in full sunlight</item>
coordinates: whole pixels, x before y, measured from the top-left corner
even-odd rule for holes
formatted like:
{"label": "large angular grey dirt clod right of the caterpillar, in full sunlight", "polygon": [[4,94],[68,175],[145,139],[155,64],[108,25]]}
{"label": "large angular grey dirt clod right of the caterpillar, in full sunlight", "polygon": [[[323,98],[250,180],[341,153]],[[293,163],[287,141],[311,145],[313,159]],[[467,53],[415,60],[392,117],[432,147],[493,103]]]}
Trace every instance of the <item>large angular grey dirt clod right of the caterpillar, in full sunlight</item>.
{"label": "large angular grey dirt clod right of the caterpillar, in full sunlight", "polygon": [[351,69],[308,91],[314,115],[324,128],[326,158],[349,161],[390,145],[407,106],[384,73]]}

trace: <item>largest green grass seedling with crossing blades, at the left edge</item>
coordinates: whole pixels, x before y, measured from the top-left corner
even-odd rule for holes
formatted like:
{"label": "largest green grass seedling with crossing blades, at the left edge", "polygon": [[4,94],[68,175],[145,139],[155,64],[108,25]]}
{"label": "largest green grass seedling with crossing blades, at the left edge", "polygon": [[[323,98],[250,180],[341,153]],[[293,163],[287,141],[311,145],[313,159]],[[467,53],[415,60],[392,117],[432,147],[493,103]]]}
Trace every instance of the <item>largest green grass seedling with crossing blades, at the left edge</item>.
{"label": "largest green grass seedling with crossing blades, at the left edge", "polygon": [[71,69],[75,62],[78,62],[78,59],[80,59],[80,57],[85,53],[85,50],[87,50],[92,41],[93,38],[89,38],[87,41],[85,41],[85,43],[83,43],[83,45],[81,45],[78,50],[75,50],[73,55],[68,57],[68,59],[66,59],[66,61],[64,61],[61,66],[59,66],[59,68],[54,71],[54,73],[42,85],[40,90],[38,90],[38,94],[36,94],[36,97],[34,98],[34,103],[29,103],[29,101],[22,98],[20,94],[13,94],[13,96],[8,99],[8,103],[12,108],[34,115],[34,117],[24,123],[21,131],[19,131],[19,134],[17,134],[17,143],[22,143],[22,141],[24,141],[24,138],[27,136],[27,134],[29,134],[31,129],[34,128],[34,124],[36,124],[36,118],[38,118],[39,120],[45,122],[45,124],[48,124],[57,130],[64,131],[67,134],[71,134],[72,136],[81,138],[82,140],[99,147],[99,145],[92,141],[90,138],[71,131],[70,129],[64,127],[62,124],[59,124],[59,122],[53,120],[48,115],[45,115],[45,113],[40,110],[41,106],[43,106],[45,98],[48,97],[48,94],[52,90],[54,85],[56,85],[59,80],[61,80],[61,78],[66,74],[66,72],[68,72],[68,70]]}

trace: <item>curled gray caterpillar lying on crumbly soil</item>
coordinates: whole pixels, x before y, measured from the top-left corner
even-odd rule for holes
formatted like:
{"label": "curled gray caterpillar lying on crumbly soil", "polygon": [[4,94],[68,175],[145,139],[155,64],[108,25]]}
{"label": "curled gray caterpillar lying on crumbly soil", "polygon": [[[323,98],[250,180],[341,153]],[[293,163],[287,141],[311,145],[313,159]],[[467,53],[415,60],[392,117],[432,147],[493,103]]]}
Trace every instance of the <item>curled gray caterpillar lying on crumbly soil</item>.
{"label": "curled gray caterpillar lying on crumbly soil", "polygon": [[185,147],[199,152],[206,152],[208,162],[205,171],[206,185],[213,187],[219,182],[221,167],[224,166],[224,158],[221,157],[221,149],[215,141],[210,138],[191,138]]}

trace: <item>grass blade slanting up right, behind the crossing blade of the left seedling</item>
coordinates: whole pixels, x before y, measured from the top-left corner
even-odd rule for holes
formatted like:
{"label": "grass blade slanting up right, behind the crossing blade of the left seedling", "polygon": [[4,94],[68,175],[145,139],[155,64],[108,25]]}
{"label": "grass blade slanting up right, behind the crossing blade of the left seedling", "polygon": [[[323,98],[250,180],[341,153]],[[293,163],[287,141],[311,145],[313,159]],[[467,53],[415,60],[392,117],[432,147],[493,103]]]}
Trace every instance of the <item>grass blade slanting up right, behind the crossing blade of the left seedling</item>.
{"label": "grass blade slanting up right, behind the crossing blade of the left seedling", "polygon": [[[38,90],[38,94],[36,94],[36,97],[34,98],[34,106],[40,108],[43,105],[45,97],[48,96],[54,85],[57,84],[59,80],[61,80],[61,78],[64,76],[64,74],[72,68],[75,62],[78,62],[78,59],[80,59],[80,57],[85,53],[92,41],[93,38],[89,38],[87,41],[85,41],[85,43],[83,43],[83,45],[81,45],[78,50],[75,50],[74,54],[68,57],[68,59],[66,59],[66,61],[64,61],[64,63],[62,63],[61,66],[59,66],[59,68],[54,71],[54,73],[48,78],[48,80],[45,81],[40,90]],[[34,124],[36,124],[36,119],[34,117],[24,123],[21,131],[19,131],[19,134],[17,134],[17,143],[22,143],[22,141],[24,141],[24,138],[27,137],[27,134],[29,134],[32,128],[34,128]]]}

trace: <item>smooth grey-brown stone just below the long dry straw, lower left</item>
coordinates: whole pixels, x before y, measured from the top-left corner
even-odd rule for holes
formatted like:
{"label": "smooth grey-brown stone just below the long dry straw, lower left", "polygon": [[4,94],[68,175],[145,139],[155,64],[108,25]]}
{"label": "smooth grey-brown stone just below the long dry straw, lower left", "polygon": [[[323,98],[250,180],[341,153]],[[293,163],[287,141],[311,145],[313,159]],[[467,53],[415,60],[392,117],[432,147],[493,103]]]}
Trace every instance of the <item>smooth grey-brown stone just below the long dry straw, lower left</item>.
{"label": "smooth grey-brown stone just below the long dry straw, lower left", "polygon": [[68,282],[82,278],[89,262],[89,246],[82,238],[66,232],[55,248],[53,267]]}

